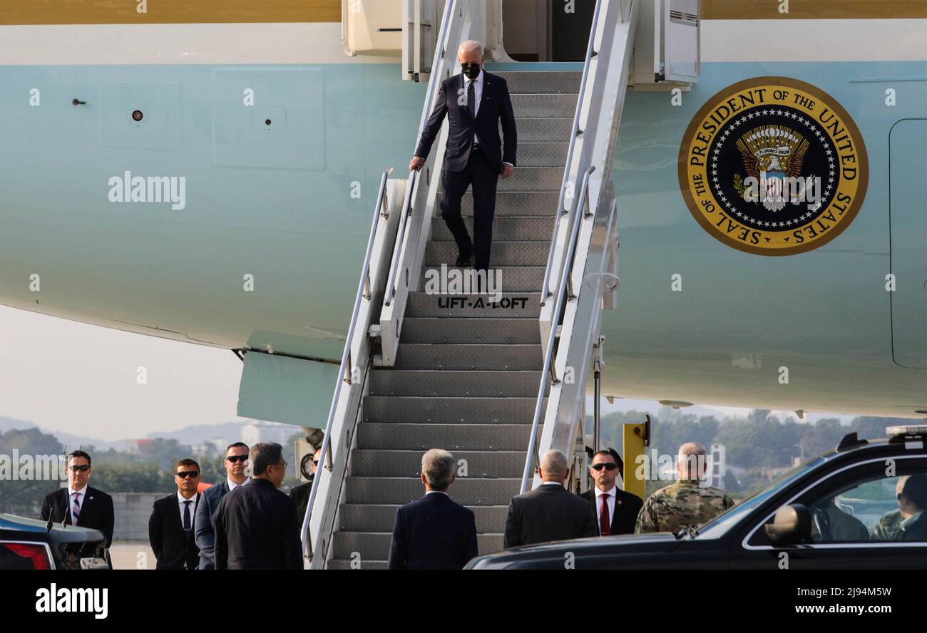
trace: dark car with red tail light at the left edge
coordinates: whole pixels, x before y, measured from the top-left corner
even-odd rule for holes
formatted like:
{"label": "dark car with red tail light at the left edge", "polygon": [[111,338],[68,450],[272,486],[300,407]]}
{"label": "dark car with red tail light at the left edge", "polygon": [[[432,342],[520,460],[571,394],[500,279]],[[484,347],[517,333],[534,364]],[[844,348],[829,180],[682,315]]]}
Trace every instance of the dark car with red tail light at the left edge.
{"label": "dark car with red tail light at the left edge", "polygon": [[99,530],[0,514],[0,569],[108,569]]}

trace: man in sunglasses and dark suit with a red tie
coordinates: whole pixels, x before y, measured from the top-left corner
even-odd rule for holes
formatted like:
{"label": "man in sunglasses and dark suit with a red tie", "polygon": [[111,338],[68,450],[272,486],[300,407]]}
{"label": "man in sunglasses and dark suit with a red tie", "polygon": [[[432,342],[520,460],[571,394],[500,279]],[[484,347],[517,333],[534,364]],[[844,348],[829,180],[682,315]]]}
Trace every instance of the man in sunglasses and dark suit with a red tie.
{"label": "man in sunglasses and dark suit with a red tie", "polygon": [[579,495],[595,509],[600,537],[634,534],[634,524],[641,512],[643,500],[616,486],[615,479],[620,470],[615,453],[609,450],[595,453],[589,469],[595,487]]}

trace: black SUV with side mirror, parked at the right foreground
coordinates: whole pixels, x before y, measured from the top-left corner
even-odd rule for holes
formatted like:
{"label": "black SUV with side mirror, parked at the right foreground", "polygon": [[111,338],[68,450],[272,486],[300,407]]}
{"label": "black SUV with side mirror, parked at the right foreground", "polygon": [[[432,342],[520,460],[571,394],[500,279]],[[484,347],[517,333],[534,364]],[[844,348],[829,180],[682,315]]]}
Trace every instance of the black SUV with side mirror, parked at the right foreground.
{"label": "black SUV with side mirror, parked at the right foreground", "polygon": [[916,500],[918,513],[896,489],[909,475],[927,475],[927,425],[886,432],[870,441],[844,437],[697,529],[529,545],[466,568],[925,569],[925,500]]}

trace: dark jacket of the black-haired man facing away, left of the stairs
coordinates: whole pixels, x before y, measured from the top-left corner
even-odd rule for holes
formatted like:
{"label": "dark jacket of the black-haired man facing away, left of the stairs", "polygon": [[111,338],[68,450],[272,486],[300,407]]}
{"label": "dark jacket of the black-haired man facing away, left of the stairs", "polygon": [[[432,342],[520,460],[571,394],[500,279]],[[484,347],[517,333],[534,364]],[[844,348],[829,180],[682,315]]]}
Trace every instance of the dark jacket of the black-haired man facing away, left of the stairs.
{"label": "dark jacket of the black-haired man facing away, left of the stairs", "polygon": [[222,498],[215,536],[216,569],[302,569],[296,502],[266,479]]}

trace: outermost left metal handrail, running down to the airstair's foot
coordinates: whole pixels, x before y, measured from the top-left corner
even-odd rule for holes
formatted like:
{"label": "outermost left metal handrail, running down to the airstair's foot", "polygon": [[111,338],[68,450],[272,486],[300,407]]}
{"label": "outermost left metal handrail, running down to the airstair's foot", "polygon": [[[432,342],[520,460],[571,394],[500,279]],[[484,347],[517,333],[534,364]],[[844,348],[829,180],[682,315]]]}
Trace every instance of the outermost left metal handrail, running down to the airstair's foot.
{"label": "outermost left metal handrail, running down to the airstair's foot", "polygon": [[[372,293],[368,292],[370,288],[370,259],[374,254],[374,241],[376,237],[376,225],[382,215],[384,218],[389,216],[389,209],[383,210],[383,203],[387,193],[387,177],[392,173],[393,168],[389,167],[383,171],[380,176],[380,189],[376,194],[376,207],[374,210],[374,221],[370,227],[370,237],[367,239],[367,253],[363,258],[363,268],[361,271],[361,281],[357,287],[357,297],[354,298],[354,310],[351,311],[350,325],[348,327],[348,337],[345,339],[345,349],[341,354],[341,366],[338,370],[338,378],[335,382],[335,394],[332,396],[332,407],[328,411],[328,422],[325,423],[325,435],[322,438],[322,460],[325,470],[332,470],[332,447],[330,438],[332,437],[332,425],[335,423],[335,411],[337,410],[338,398],[341,395],[341,385],[347,383],[350,385],[350,346],[354,338],[354,328],[357,324],[358,314],[361,311],[362,299],[370,300]],[[303,556],[311,560],[312,558],[312,539],[309,533],[309,522],[312,516],[312,506],[315,497],[319,491],[319,481],[321,476],[312,478],[312,485],[309,492],[309,504],[306,506],[306,514],[302,519],[302,551]]]}

